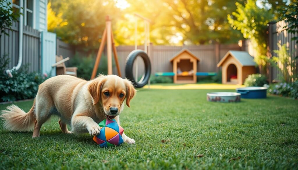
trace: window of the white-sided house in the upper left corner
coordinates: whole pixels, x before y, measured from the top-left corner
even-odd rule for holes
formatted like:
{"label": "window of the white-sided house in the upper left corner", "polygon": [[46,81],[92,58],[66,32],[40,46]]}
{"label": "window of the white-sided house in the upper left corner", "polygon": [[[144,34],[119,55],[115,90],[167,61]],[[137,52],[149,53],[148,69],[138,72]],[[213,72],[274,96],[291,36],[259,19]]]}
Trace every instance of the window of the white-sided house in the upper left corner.
{"label": "window of the white-sided house in the upper left corner", "polygon": [[[33,27],[34,23],[34,0],[23,0],[23,21],[24,25]],[[13,0],[13,12],[20,11],[20,1]],[[19,20],[19,18],[18,18]]]}

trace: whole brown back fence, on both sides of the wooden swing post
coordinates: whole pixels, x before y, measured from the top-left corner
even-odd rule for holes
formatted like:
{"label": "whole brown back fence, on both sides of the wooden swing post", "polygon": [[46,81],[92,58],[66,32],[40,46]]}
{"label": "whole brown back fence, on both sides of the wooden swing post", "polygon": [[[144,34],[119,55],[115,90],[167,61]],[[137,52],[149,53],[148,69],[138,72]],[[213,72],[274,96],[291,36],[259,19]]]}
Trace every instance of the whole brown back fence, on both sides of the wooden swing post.
{"label": "whole brown back fence, on both sides of the wooden swing post", "polygon": [[[190,50],[193,54],[200,58],[201,61],[198,63],[198,72],[218,72],[220,68],[217,68],[216,65],[229,50],[244,50],[244,48],[238,46],[238,44],[214,44],[201,46],[153,46],[152,44],[150,44],[149,57],[151,60],[151,73],[154,74],[156,72],[172,72],[173,65],[170,63],[170,59],[184,48]],[[117,46],[116,49],[122,78],[125,78],[125,61],[128,54],[134,50],[134,46]],[[138,49],[144,50],[144,46],[138,46]],[[57,40],[57,55],[62,55],[63,58],[72,58],[76,52],[78,52],[77,54],[81,57],[86,57],[90,54],[93,54],[93,57],[95,58],[97,54],[97,50],[86,53],[80,50],[80,48],[69,46],[68,44],[63,43],[61,40]],[[107,55],[105,49],[103,51],[101,62],[103,61],[103,57],[106,56]],[[141,59],[138,60],[138,63],[138,75],[142,75],[145,71],[144,63]],[[68,63],[66,63],[66,65],[68,65]],[[117,68],[115,64],[113,64],[113,74],[117,74]]]}

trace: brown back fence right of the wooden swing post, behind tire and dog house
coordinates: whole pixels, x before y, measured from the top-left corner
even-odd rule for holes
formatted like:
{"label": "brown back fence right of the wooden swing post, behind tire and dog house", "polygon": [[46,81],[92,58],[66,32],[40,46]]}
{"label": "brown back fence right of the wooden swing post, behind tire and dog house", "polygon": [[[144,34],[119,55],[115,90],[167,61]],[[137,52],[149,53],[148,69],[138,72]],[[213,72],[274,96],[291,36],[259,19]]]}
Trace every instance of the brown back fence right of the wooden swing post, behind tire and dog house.
{"label": "brown back fence right of the wooden swing post, behind tire and dog house", "polygon": [[[150,44],[149,57],[151,60],[151,73],[156,72],[172,72],[173,65],[170,63],[170,59],[180,52],[182,49],[188,49],[198,58],[198,72],[218,72],[219,68],[216,67],[217,63],[229,50],[242,50],[238,44],[231,45],[201,45],[201,46],[153,46]],[[138,49],[144,49],[143,46],[139,46]],[[125,60],[128,54],[134,50],[134,46],[118,46],[117,53],[120,63],[120,69],[122,77],[125,77]],[[139,60],[138,75],[144,72],[142,60]],[[116,68],[113,68],[113,73],[116,74]]]}

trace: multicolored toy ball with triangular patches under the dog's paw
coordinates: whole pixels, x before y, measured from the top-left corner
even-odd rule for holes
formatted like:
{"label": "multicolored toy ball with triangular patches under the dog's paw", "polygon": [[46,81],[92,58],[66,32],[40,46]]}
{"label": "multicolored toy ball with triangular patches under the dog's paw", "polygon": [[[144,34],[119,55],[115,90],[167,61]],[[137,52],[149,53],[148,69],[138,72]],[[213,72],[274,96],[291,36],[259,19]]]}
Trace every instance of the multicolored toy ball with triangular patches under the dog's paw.
{"label": "multicolored toy ball with triangular patches under the dog's paw", "polygon": [[99,124],[100,134],[94,136],[93,141],[100,147],[118,146],[123,143],[122,133],[124,129],[118,126],[115,119],[103,120]]}

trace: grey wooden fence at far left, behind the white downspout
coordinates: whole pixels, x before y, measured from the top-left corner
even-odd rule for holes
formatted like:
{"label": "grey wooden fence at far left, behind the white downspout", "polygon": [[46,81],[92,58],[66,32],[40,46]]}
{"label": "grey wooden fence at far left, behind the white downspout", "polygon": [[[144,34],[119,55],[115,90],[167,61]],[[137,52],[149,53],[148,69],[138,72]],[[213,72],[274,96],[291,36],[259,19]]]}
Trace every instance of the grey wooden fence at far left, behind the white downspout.
{"label": "grey wooden fence at far left, behind the white downspout", "polygon": [[[13,22],[10,29],[5,29],[9,34],[1,35],[0,40],[0,55],[8,55],[10,59],[7,69],[11,69],[18,64],[18,22]],[[22,65],[29,65],[29,71],[40,70],[40,32],[30,26],[23,28],[23,62]]]}

